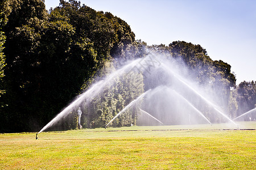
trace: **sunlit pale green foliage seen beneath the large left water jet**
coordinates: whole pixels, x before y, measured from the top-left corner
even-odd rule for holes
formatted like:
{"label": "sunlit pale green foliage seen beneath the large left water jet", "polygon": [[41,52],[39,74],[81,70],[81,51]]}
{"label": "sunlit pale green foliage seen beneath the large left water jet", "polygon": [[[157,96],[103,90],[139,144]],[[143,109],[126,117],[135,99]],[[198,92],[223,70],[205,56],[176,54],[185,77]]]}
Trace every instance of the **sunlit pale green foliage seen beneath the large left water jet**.
{"label": "sunlit pale green foliage seen beneath the large left water jet", "polygon": [[[105,64],[104,70],[113,63]],[[113,68],[113,67],[112,67]],[[112,70],[113,71],[113,70]],[[104,71],[105,72],[105,71]],[[108,72],[108,71],[107,71]],[[83,106],[82,124],[84,128],[104,127],[126,105],[144,92],[143,76],[134,70],[117,76],[98,94],[92,102]],[[138,107],[141,101],[127,109],[109,126],[121,127],[135,125],[138,118]]]}

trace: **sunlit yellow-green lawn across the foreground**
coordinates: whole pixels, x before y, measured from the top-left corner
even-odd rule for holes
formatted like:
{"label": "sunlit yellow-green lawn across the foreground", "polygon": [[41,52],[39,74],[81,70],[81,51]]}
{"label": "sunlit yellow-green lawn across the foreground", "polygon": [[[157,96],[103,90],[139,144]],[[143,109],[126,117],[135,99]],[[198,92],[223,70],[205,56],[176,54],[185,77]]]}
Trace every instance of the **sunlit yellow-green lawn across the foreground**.
{"label": "sunlit yellow-green lawn across the foreground", "polygon": [[83,129],[43,132],[38,140],[0,134],[0,169],[254,169],[256,131],[219,130],[230,127]]}

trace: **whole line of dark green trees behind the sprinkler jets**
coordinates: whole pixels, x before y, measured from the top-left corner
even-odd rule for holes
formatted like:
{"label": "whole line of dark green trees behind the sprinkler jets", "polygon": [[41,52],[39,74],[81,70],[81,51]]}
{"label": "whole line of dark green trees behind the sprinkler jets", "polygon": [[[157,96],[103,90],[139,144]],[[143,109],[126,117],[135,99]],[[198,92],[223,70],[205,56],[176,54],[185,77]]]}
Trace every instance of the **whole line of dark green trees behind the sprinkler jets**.
{"label": "whole line of dark green trees behind the sprinkler jets", "polygon": [[[212,61],[200,45],[175,41],[168,46],[147,46],[135,40],[134,32],[121,18],[76,0],[60,0],[59,6],[49,11],[42,0],[3,0],[0,10],[2,132],[40,130],[96,77],[106,75],[115,60],[142,58],[146,48],[183,59],[197,82],[202,86],[211,82],[213,89],[218,88],[215,91],[222,96],[220,102],[230,116],[254,107],[255,82],[236,86],[231,66]],[[147,90],[141,74],[116,81],[120,88],[110,87],[84,108],[84,128],[105,125]],[[137,89],[134,83],[138,83]],[[135,112],[131,109],[131,114],[123,114],[113,126],[135,124]],[[76,113],[71,115],[71,121],[61,128],[77,128]]]}

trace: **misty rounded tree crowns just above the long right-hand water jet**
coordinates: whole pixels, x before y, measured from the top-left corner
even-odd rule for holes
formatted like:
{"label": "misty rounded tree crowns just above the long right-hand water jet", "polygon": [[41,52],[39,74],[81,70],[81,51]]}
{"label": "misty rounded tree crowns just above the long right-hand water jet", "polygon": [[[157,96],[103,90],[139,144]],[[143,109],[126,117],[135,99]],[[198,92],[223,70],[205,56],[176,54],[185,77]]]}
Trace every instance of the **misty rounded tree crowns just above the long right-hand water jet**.
{"label": "misty rounded tree crowns just above the long right-hand water jet", "polygon": [[169,46],[172,56],[180,57],[185,65],[193,70],[192,76],[200,84],[212,87],[214,94],[221,99],[218,100],[218,105],[228,111],[230,87],[236,86],[236,77],[231,73],[231,66],[221,60],[212,61],[200,45],[175,41]]}

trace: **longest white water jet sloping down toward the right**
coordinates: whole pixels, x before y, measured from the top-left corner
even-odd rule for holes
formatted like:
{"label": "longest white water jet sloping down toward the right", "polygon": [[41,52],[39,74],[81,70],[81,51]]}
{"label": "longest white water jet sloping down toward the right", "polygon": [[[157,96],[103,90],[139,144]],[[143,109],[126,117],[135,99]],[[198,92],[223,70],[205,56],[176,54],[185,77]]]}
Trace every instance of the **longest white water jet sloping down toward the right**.
{"label": "longest white water jet sloping down toward the right", "polygon": [[195,92],[197,95],[199,95],[201,97],[201,99],[203,99],[204,101],[206,101],[209,105],[211,105],[218,113],[220,113],[222,116],[224,116],[225,118],[227,118],[230,122],[232,122],[232,124],[236,125],[238,128],[238,125],[232,121],[228,116],[226,116],[226,114],[222,113],[221,111],[218,111],[217,105],[213,104],[211,101],[207,100],[204,96],[202,96],[199,92],[197,92],[193,87],[189,86],[188,83],[186,83],[183,78],[181,78],[179,75],[177,75],[174,71],[172,71],[169,67],[167,67],[164,63],[163,66],[170,71],[170,73],[172,75],[175,76],[176,79],[180,80],[181,83],[183,83],[185,86],[187,86],[190,90],[192,90],[193,92]]}

